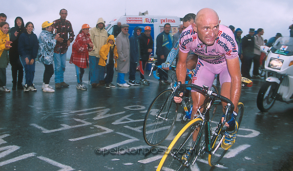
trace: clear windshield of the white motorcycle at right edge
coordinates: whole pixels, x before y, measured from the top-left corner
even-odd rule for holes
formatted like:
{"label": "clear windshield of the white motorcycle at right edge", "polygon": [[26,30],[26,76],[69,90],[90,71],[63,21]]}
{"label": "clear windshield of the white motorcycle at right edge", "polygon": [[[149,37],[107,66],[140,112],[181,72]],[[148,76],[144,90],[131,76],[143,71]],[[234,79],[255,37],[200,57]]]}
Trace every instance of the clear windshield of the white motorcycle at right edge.
{"label": "clear windshield of the white motorcycle at right edge", "polygon": [[292,56],[293,55],[293,37],[280,37],[272,46],[272,53]]}

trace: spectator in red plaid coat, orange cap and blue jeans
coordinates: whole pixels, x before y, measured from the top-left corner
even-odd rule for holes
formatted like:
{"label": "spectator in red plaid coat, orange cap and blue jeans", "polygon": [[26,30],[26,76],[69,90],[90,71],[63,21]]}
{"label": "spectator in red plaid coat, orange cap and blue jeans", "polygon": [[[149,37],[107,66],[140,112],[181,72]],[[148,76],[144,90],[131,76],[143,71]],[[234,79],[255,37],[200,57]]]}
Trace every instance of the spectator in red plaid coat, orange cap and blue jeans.
{"label": "spectator in red plaid coat, orange cap and blue jeans", "polygon": [[93,49],[93,43],[89,38],[89,25],[83,24],[81,31],[77,35],[74,43],[72,44],[72,54],[69,63],[75,64],[77,89],[86,90],[83,84],[84,68],[88,66],[88,52]]}

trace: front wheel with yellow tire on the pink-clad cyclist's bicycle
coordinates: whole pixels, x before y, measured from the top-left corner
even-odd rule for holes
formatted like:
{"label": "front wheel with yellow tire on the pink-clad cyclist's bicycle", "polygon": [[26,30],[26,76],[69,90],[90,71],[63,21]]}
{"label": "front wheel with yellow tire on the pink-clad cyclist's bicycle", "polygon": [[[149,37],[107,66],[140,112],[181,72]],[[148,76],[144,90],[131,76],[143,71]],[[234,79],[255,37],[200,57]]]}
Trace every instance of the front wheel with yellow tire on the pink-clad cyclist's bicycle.
{"label": "front wheel with yellow tire on the pink-clad cyclist's bicycle", "polygon": [[[186,171],[188,169],[188,167],[184,165],[182,161],[175,159],[174,156],[182,159],[185,151],[194,145],[192,139],[193,132],[195,128],[201,126],[202,123],[203,120],[201,118],[193,119],[179,131],[179,133],[176,135],[176,137],[167,148],[167,151],[162,157],[156,171]],[[199,135],[200,134],[198,134],[197,138],[199,137]],[[191,159],[195,154],[194,152],[195,151],[191,151],[191,153],[189,154],[189,157],[191,157]]]}

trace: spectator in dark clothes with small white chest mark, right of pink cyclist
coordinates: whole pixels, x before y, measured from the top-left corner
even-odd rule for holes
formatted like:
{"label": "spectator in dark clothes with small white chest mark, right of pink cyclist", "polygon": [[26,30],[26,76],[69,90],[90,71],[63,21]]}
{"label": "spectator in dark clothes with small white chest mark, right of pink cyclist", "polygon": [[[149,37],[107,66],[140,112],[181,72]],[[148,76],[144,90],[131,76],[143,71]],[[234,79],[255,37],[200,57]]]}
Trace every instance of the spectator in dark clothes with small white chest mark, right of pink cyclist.
{"label": "spectator in dark clothes with small white chest mark, right of pink cyclist", "polygon": [[241,74],[243,77],[251,78],[250,70],[254,56],[254,28],[249,29],[249,34],[242,38],[243,58],[241,59]]}

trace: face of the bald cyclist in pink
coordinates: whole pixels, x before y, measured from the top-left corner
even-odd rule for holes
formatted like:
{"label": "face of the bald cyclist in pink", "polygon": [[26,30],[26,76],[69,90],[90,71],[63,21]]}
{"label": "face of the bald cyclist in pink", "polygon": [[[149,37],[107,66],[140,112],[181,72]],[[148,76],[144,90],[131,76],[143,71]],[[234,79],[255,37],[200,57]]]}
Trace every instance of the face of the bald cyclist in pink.
{"label": "face of the bald cyclist in pink", "polygon": [[198,38],[207,45],[212,45],[219,33],[220,21],[216,16],[201,17],[193,24]]}

